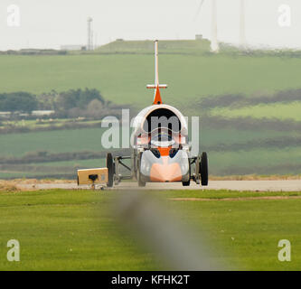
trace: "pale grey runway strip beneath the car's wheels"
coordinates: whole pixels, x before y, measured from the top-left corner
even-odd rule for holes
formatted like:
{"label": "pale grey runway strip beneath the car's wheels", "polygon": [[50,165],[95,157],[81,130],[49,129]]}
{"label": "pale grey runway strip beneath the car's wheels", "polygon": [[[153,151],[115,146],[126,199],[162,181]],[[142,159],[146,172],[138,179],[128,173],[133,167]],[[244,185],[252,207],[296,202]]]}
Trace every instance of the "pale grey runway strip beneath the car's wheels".
{"label": "pale grey runway strip beneath the car's wheels", "polygon": [[[49,189],[89,189],[89,186],[78,187],[77,183],[20,183],[18,185],[25,190],[49,190]],[[97,186],[99,188],[99,186]],[[104,188],[106,190],[106,188]],[[283,181],[211,181],[209,186],[202,187],[191,182],[189,187],[183,187],[181,182],[174,183],[147,183],[146,187],[138,188],[136,182],[121,182],[118,186],[108,190],[230,190],[230,191],[301,191],[301,180]]]}

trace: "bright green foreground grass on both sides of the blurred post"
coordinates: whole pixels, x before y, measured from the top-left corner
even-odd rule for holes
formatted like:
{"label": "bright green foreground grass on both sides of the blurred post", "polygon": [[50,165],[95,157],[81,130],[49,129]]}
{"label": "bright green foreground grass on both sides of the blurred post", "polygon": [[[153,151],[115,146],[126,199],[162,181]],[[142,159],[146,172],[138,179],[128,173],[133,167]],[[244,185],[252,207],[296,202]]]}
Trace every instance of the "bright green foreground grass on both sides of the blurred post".
{"label": "bright green foreground grass on both sides of the blurred post", "polygon": [[[122,192],[126,193],[126,192]],[[114,191],[0,192],[1,270],[166,269],[155,253],[116,219]],[[226,269],[300,270],[300,192],[161,191],[165,214],[210,241],[211,257]],[[205,198],[211,201],[170,200]],[[226,200],[232,198],[233,200]],[[237,198],[240,198],[237,199]],[[241,199],[243,198],[243,199]],[[181,212],[181,213],[180,213]],[[6,260],[9,239],[17,239],[21,261]],[[292,261],[279,262],[277,243],[288,239]],[[168,269],[168,268],[167,268]]]}

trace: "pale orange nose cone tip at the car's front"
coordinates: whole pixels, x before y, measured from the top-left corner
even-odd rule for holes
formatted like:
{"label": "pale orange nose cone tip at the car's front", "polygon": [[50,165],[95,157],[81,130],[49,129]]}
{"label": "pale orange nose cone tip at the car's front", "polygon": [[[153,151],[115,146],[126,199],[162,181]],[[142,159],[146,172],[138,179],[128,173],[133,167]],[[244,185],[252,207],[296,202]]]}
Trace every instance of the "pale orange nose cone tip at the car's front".
{"label": "pale orange nose cone tip at the car's front", "polygon": [[152,182],[180,182],[182,180],[182,172],[178,163],[168,164],[168,156],[162,157],[162,163],[154,163],[150,179]]}

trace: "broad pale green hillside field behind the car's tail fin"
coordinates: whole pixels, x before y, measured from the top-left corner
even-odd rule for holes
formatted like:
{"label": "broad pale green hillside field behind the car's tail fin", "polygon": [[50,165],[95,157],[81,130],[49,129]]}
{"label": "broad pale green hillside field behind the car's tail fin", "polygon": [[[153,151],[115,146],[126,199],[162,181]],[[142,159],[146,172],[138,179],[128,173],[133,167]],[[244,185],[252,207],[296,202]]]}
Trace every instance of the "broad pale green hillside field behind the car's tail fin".
{"label": "broad pale green hillside field behind the car's tail fin", "polygon": [[[189,51],[183,44],[182,51]],[[154,82],[153,54],[91,54],[67,56],[0,55],[0,91],[33,93],[67,89],[99,89],[118,104],[149,105]],[[135,63],[135,65],[133,65]],[[22,68],[22,69],[20,69]],[[160,79],[169,89],[166,103],[187,105],[197,98],[229,93],[266,92],[300,88],[301,60],[277,56],[165,53]]]}

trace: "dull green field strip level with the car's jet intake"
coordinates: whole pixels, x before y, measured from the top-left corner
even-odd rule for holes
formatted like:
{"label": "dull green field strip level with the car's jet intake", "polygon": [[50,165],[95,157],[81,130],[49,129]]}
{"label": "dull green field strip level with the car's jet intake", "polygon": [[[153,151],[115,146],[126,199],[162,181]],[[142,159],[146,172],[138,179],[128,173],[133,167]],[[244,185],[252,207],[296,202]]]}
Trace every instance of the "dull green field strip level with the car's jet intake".
{"label": "dull green field strip level with the car's jet intake", "polygon": [[[23,156],[29,152],[49,151],[51,153],[66,153],[78,151],[104,150],[101,136],[105,128],[82,128],[58,131],[33,132],[25,134],[0,135],[0,157]],[[236,129],[212,129],[201,126],[201,148],[210,149],[215,144],[248,144],[252,140],[258,142],[265,139],[278,138],[283,135],[294,136],[296,132],[241,131]],[[120,138],[121,145],[121,138]]]}

